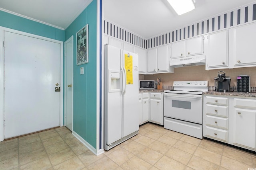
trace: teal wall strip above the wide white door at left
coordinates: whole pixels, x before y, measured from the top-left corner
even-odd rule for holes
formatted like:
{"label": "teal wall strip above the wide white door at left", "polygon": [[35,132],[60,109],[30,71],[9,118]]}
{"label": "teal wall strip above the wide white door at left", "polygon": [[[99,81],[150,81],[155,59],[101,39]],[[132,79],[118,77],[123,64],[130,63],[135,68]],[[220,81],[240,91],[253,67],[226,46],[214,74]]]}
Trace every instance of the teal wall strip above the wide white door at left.
{"label": "teal wall strip above the wide white door at left", "polygon": [[26,33],[40,35],[42,37],[56,39],[59,41],[64,41],[65,39],[64,30],[54,28],[36,21],[28,20],[19,16],[15,16],[13,14],[3,11],[0,11],[0,26],[16,29],[18,31],[23,31]]}

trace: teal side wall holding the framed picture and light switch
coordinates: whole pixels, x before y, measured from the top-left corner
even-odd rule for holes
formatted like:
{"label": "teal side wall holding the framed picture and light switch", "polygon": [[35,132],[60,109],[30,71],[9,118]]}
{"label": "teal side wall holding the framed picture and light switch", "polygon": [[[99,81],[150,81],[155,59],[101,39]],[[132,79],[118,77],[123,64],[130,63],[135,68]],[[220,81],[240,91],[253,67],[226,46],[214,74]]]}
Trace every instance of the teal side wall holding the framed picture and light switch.
{"label": "teal side wall holding the framed picture and light switch", "polygon": [[[76,32],[88,24],[89,63],[76,65]],[[97,0],[88,7],[65,30],[65,40],[74,36],[73,51],[73,131],[96,149],[97,119]],[[84,74],[80,75],[80,68]]]}

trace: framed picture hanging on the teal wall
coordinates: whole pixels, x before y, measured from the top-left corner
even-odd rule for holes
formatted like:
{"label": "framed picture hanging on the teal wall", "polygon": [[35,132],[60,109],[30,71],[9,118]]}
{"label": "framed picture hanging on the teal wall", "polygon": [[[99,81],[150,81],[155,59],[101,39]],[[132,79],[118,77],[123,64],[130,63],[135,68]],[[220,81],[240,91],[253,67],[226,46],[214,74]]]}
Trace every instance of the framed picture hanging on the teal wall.
{"label": "framed picture hanging on the teal wall", "polygon": [[76,65],[88,63],[88,24],[76,33]]}

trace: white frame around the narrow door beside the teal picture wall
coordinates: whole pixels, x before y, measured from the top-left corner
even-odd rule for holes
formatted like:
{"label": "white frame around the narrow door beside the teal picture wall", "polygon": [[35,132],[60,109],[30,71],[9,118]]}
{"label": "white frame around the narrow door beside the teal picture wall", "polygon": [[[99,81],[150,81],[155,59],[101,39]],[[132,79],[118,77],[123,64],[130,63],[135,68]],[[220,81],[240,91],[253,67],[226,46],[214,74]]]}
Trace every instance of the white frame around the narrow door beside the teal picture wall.
{"label": "white frame around the narrow door beside the teal picture wall", "polygon": [[[67,40],[67,41],[65,41],[64,42],[64,59],[65,59],[65,63],[64,63],[64,68],[65,68],[65,72],[66,72],[66,44],[69,42],[69,41],[71,41],[72,42],[72,51],[74,50],[74,43],[73,43],[73,35]],[[73,66],[73,57],[72,57],[72,72],[74,72],[74,66]],[[65,92],[67,91],[67,86],[66,86],[66,84],[67,84],[67,82],[66,82],[66,80],[67,80],[67,78],[66,78],[66,76],[67,76],[67,74],[64,74],[64,90],[65,90]],[[73,75],[72,75],[72,85],[74,85],[74,83],[73,83]],[[73,88],[72,88],[72,120],[73,120],[73,92],[74,92],[74,90],[73,90]],[[66,119],[67,119],[67,117],[66,117],[66,97],[67,97],[67,95],[65,95],[65,97],[64,97],[64,125],[66,126]],[[73,123],[72,123],[72,131],[73,131]]]}

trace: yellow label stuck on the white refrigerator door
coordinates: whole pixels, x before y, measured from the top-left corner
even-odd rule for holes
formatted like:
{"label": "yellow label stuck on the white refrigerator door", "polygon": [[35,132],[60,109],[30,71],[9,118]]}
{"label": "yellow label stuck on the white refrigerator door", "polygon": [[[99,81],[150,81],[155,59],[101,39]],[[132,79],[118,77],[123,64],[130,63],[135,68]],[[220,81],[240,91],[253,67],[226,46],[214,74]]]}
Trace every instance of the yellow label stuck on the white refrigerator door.
{"label": "yellow label stuck on the white refrigerator door", "polygon": [[126,70],[126,84],[133,84],[132,55],[124,54],[124,69]]}

